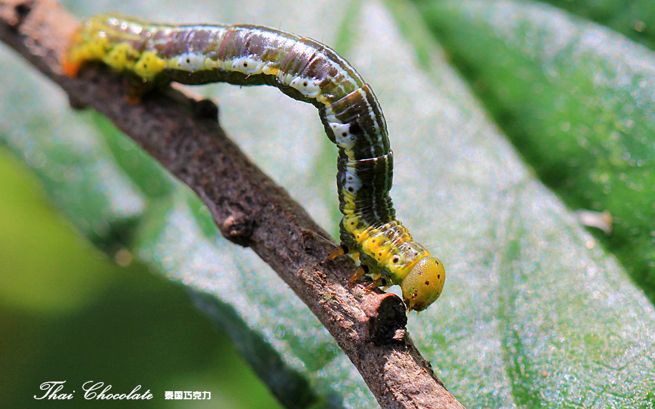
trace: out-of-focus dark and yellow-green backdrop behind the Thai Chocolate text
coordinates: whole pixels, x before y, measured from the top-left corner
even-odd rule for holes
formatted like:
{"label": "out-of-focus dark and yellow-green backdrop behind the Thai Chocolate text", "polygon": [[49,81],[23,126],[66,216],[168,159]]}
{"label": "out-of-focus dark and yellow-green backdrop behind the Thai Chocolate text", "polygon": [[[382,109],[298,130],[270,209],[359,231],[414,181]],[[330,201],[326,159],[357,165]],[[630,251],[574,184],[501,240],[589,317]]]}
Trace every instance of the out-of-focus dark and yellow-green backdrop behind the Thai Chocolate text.
{"label": "out-of-focus dark and yellow-green backdrop behind the Thai Chocolate text", "polygon": [[[181,286],[93,248],[4,146],[0,181],[2,408],[281,407]],[[76,399],[32,399],[45,381],[66,381]],[[87,401],[86,381],[120,393],[141,385],[153,399]],[[165,390],[207,390],[212,399],[166,401]]]}

